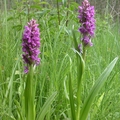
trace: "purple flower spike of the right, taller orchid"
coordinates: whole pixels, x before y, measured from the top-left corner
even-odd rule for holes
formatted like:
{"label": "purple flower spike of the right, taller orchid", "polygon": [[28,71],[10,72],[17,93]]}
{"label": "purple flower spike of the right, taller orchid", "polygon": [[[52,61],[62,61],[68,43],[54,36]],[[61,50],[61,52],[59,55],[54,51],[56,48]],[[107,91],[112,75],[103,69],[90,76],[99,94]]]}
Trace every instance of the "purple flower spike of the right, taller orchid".
{"label": "purple flower spike of the right, taller orchid", "polygon": [[95,30],[95,11],[94,6],[90,6],[88,0],[84,0],[82,6],[79,6],[79,22],[81,26],[79,31],[83,35],[81,41],[84,46],[92,46],[91,37],[94,36]]}

